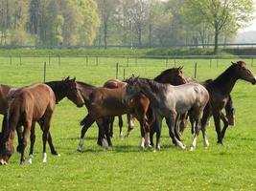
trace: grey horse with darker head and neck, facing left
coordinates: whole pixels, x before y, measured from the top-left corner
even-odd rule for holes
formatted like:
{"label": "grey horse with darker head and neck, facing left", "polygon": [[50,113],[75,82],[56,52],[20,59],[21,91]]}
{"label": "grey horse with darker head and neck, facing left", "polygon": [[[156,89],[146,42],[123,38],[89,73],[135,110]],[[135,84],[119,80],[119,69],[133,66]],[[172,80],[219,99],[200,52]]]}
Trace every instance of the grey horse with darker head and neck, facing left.
{"label": "grey horse with darker head and neck, facing left", "polygon": [[[151,109],[156,120],[156,150],[160,150],[160,135],[163,117],[166,118],[169,127],[169,135],[173,142],[181,149],[185,149],[185,145],[175,135],[175,118],[189,112],[196,123],[196,133],[191,145],[194,150],[197,145],[199,133],[199,121],[202,111],[209,100],[207,90],[198,83],[188,83],[179,86],[158,83],[154,80],[139,77],[130,77],[126,87],[125,101],[139,94],[144,93],[151,100]],[[204,140],[206,141],[206,140]]]}

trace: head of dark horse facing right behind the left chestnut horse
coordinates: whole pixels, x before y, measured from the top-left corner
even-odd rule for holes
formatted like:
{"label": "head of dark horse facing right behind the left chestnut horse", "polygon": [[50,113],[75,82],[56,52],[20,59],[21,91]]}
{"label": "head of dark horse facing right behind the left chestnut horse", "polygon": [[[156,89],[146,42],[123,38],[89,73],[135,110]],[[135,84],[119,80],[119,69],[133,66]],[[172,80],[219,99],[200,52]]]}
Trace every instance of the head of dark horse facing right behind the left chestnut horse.
{"label": "head of dark horse facing right behind the left chestnut horse", "polygon": [[67,87],[67,98],[70,99],[73,103],[75,103],[78,107],[82,107],[82,105],[84,104],[84,100],[78,88],[76,77],[70,79],[68,76],[67,78],[62,80],[62,82]]}

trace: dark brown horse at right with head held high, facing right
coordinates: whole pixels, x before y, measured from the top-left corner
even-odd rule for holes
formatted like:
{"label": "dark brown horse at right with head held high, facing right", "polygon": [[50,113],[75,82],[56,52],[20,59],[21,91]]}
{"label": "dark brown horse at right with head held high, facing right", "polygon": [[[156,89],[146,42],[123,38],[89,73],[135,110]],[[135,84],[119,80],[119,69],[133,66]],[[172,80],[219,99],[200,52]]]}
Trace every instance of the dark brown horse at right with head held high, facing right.
{"label": "dark brown horse at right with head held high, facing right", "polygon": [[201,119],[201,131],[203,138],[206,137],[206,124],[209,121],[209,118],[213,116],[218,136],[218,143],[222,143],[222,138],[224,138],[227,125],[225,125],[221,131],[221,109],[225,106],[238,79],[243,79],[253,85],[256,84],[255,75],[247,68],[244,61],[232,62],[231,66],[229,66],[216,79],[205,84],[205,88],[208,90],[210,95],[210,100],[209,104],[207,104],[203,111],[203,117]]}

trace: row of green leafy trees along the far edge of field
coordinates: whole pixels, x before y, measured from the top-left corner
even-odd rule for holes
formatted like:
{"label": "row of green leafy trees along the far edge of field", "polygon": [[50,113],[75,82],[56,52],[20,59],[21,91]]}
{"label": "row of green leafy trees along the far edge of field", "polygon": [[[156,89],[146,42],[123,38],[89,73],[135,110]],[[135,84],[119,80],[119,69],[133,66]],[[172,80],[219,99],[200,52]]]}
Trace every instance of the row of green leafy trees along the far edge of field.
{"label": "row of green leafy trees along the far edge of field", "polygon": [[231,42],[253,0],[0,0],[1,45]]}

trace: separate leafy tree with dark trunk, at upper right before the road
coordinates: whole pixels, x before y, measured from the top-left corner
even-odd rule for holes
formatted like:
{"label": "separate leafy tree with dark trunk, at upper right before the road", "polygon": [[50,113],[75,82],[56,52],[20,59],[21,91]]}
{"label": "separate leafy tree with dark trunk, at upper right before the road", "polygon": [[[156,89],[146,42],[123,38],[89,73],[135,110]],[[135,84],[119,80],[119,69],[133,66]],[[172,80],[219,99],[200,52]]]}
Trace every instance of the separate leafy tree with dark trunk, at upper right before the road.
{"label": "separate leafy tree with dark trunk, at upper right before the road", "polygon": [[[215,53],[218,52],[220,33],[232,23],[235,29],[252,19],[253,0],[186,0],[189,17],[199,23],[207,22],[214,29]],[[233,22],[235,21],[235,22]]]}

